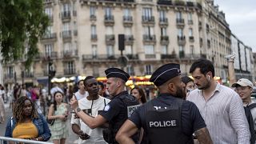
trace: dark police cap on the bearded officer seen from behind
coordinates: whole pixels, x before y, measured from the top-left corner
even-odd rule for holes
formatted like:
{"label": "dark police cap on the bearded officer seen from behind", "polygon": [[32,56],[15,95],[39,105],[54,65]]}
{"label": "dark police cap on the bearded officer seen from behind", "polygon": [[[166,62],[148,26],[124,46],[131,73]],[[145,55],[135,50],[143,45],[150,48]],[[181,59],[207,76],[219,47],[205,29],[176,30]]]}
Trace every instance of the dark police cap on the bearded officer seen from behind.
{"label": "dark police cap on the bearded officer seen from behind", "polygon": [[177,77],[181,74],[181,70],[179,69],[179,64],[169,63],[163,65],[155,70],[150,78],[150,82],[154,82],[155,86],[161,86],[171,78]]}

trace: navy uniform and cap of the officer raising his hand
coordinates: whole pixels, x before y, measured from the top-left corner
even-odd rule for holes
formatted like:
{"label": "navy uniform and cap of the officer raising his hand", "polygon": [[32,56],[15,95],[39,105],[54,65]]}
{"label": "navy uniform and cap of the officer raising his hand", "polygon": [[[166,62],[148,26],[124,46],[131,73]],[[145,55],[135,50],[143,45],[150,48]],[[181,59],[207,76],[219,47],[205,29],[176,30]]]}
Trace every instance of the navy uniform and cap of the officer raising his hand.
{"label": "navy uniform and cap of the officer raising his hand", "polygon": [[[125,82],[130,78],[129,74],[118,68],[110,68],[105,73],[106,78],[122,78]],[[103,133],[106,142],[118,143],[115,140],[115,135],[138,106],[140,106],[138,100],[133,95],[128,94],[127,91],[113,96],[100,113],[109,122],[109,129]],[[133,139],[134,142],[138,142],[138,134],[134,134]]]}

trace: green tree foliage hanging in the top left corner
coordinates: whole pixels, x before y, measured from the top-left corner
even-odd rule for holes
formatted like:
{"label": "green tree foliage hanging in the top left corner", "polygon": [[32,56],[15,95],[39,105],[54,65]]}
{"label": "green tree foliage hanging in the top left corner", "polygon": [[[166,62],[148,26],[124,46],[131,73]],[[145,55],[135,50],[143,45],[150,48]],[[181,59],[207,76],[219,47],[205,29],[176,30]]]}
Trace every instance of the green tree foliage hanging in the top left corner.
{"label": "green tree foliage hanging in the top left corner", "polygon": [[[3,62],[25,55],[26,68],[38,54],[38,38],[45,33],[49,18],[43,0],[0,0],[0,49]],[[28,50],[25,54],[25,46]]]}

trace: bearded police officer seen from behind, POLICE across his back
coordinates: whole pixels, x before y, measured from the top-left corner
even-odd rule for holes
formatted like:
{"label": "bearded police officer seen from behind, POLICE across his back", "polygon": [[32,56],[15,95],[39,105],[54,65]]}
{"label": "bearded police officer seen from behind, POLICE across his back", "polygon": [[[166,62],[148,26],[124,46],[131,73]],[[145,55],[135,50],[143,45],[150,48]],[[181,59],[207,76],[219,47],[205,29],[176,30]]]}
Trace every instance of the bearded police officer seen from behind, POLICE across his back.
{"label": "bearded police officer seen from behind, POLICE across his back", "polygon": [[170,63],[152,74],[150,82],[160,94],[137,110],[122,125],[116,139],[133,143],[130,136],[143,127],[148,143],[194,143],[193,133],[202,143],[212,143],[206,124],[193,102],[182,100],[184,86],[180,66]]}

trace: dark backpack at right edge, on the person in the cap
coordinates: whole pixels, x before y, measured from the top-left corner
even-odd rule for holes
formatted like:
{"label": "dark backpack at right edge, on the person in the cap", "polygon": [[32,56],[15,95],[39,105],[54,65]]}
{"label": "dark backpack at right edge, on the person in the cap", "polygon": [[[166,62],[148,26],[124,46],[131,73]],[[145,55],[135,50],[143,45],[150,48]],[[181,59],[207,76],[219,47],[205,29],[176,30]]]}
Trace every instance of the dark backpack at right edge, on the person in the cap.
{"label": "dark backpack at right edge, on the person in the cap", "polygon": [[244,106],[246,118],[247,118],[249,128],[250,128],[250,143],[251,144],[254,144],[256,141],[256,133],[254,130],[254,118],[250,112],[250,110],[253,109],[254,107],[256,107],[256,103],[252,103],[249,106]]}

